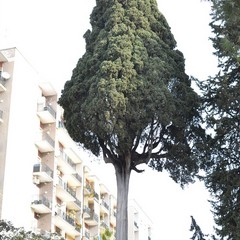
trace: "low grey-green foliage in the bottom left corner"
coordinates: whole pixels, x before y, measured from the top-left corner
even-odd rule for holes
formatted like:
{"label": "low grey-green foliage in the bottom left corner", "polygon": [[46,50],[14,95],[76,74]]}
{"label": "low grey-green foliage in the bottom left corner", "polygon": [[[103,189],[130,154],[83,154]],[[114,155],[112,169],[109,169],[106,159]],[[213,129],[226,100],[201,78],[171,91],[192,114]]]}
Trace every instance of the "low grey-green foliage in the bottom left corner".
{"label": "low grey-green foliage in the bottom left corner", "polygon": [[17,228],[9,221],[0,220],[0,240],[64,240],[59,235],[52,233],[48,236]]}

